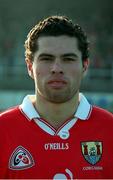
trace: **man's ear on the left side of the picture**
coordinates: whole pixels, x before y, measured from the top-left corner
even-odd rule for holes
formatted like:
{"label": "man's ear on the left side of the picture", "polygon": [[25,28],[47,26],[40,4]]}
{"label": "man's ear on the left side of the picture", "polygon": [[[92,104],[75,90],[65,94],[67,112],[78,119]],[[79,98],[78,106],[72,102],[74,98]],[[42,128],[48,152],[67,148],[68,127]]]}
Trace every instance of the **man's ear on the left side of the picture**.
{"label": "man's ear on the left side of the picture", "polygon": [[26,59],[26,65],[27,65],[27,71],[29,76],[34,79],[34,75],[33,75],[33,62],[29,59]]}

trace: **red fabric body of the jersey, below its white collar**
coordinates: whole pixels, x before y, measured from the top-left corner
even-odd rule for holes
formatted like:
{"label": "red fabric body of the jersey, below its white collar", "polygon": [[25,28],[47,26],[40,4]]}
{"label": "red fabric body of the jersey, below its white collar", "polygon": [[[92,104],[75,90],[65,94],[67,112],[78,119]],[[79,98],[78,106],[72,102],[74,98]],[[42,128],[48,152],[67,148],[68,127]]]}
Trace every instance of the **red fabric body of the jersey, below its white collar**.
{"label": "red fabric body of the jersey, below its white collar", "polygon": [[[89,119],[78,119],[69,133],[68,139],[49,135],[18,107],[0,114],[0,178],[113,178],[113,115],[93,107]],[[90,147],[84,145],[86,142],[96,142],[97,155],[101,154],[94,165],[85,159],[86,148]],[[102,144],[102,153],[98,142]],[[28,156],[30,153],[31,159],[27,155],[19,158],[24,157],[25,167],[33,161],[31,167],[10,169],[10,160],[18,147],[25,148]]]}

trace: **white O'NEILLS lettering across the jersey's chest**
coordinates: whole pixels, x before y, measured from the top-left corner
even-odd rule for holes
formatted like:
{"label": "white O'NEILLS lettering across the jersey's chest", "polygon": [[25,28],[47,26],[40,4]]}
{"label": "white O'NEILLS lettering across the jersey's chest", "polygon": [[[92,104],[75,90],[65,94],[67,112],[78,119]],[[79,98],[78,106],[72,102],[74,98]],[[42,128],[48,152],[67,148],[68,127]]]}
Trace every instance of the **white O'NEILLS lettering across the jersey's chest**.
{"label": "white O'NEILLS lettering across the jersey's chest", "polygon": [[45,150],[68,150],[69,143],[47,143],[44,145]]}

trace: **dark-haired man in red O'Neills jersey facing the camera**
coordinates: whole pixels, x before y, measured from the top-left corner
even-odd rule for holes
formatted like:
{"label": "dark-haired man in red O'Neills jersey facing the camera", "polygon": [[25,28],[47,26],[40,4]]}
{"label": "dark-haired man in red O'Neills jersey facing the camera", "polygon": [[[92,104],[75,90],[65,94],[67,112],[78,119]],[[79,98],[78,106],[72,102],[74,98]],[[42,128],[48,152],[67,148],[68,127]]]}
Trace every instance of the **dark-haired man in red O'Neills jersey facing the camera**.
{"label": "dark-haired man in red O'Neills jersey facing the camera", "polygon": [[89,65],[82,28],[48,17],[25,49],[35,95],[0,115],[0,178],[113,178],[113,115],[79,93]]}

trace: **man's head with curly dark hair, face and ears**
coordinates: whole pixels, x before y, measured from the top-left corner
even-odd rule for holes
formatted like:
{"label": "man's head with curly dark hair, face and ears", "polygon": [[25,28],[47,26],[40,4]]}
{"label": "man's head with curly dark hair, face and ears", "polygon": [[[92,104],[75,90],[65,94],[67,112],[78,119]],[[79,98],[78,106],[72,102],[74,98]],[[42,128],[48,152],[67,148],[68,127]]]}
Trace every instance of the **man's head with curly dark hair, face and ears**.
{"label": "man's head with curly dark hair, face and ears", "polygon": [[63,103],[78,94],[89,64],[87,37],[79,25],[66,17],[49,17],[30,31],[25,48],[37,97]]}

